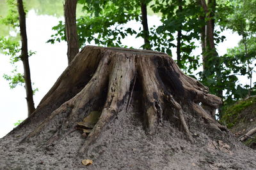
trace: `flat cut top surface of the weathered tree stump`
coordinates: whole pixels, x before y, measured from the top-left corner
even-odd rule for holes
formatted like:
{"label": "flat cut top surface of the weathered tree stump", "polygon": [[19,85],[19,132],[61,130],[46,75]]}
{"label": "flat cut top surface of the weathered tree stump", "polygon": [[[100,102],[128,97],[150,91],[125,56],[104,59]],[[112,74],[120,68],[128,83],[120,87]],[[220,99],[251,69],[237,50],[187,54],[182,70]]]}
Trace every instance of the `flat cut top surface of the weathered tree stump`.
{"label": "flat cut top surface of the weathered tree stump", "polygon": [[156,52],[153,50],[139,50],[139,49],[131,49],[131,48],[121,48],[121,47],[102,47],[102,46],[85,46],[84,48],[99,48],[102,50],[113,50],[116,52],[122,52],[122,53],[138,53],[143,55],[168,55],[163,52]]}

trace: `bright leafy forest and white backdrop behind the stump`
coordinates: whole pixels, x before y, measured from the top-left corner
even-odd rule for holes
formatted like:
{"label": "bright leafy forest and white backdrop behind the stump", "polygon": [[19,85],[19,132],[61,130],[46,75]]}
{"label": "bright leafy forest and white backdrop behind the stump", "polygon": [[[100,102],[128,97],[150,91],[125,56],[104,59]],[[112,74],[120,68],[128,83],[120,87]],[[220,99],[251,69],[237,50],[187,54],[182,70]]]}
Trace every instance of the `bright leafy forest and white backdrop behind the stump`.
{"label": "bright leafy forest and white backdrop behind the stump", "polygon": [[[0,138],[28,114],[19,59],[17,9],[13,2],[0,0]],[[207,4],[206,10],[202,2]],[[223,99],[217,115],[221,120],[227,106],[255,95],[255,5],[255,0],[79,0],[79,47],[122,46],[168,53],[182,71],[202,81],[211,93]],[[35,83],[33,89],[38,89],[34,96],[36,106],[68,64],[63,1],[26,0],[24,6],[31,80]],[[147,6],[148,32],[141,24],[143,6]],[[208,40],[202,41],[202,28],[207,28],[209,21],[214,24],[213,48],[205,47]]]}

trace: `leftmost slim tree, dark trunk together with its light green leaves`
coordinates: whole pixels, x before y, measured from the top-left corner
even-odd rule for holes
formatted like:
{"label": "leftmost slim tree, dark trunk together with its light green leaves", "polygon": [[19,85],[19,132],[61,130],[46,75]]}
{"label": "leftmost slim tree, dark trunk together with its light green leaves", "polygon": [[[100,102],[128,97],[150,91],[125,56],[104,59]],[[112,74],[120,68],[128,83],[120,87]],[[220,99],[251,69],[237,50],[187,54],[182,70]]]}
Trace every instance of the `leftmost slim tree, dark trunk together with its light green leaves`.
{"label": "leftmost slim tree, dark trunk together with its light green leaves", "polygon": [[[1,22],[6,25],[12,25],[15,28],[19,27],[20,38],[21,38],[21,48],[20,43],[16,38],[4,38],[1,37],[1,48],[4,51],[4,54],[10,55],[10,61],[13,65],[19,60],[23,63],[24,74],[17,72],[17,67],[13,69],[12,76],[4,74],[4,78],[10,81],[10,87],[14,88],[16,85],[22,85],[24,83],[26,89],[26,101],[28,105],[28,116],[30,116],[33,111],[35,111],[34,100],[33,100],[33,91],[31,85],[31,76],[29,69],[29,55],[32,55],[33,52],[28,52],[28,39],[26,34],[26,13],[24,11],[22,0],[8,1],[10,10],[6,18],[3,18]],[[19,20],[18,20],[19,18]],[[19,49],[20,48],[20,49]],[[36,89],[37,90],[37,89]]]}

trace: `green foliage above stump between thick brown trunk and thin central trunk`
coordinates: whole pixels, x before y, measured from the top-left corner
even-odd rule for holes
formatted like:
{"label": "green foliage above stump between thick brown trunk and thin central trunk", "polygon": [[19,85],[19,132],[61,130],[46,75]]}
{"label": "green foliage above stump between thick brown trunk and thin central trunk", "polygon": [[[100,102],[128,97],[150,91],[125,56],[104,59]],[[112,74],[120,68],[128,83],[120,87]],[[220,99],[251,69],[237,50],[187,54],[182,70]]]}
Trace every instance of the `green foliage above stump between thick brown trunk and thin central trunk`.
{"label": "green foliage above stump between thick brown trunk and thin central trunk", "polygon": [[[122,25],[130,20],[138,20],[136,1],[79,1],[84,5],[84,16],[77,18],[79,45],[95,43],[104,46],[123,46],[121,39],[127,34],[136,34],[131,28]],[[49,39],[50,43],[65,40],[65,25],[60,22],[53,27],[56,34]]]}

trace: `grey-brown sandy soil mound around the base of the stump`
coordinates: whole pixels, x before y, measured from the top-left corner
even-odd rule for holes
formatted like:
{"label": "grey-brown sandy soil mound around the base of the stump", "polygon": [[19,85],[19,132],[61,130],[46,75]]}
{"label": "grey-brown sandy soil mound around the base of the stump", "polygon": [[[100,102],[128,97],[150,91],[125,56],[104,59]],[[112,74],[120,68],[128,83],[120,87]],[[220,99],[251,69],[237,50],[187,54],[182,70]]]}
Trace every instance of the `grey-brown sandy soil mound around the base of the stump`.
{"label": "grey-brown sandy soil mound around the base of the stump", "polygon": [[[155,134],[147,135],[140,111],[131,106],[118,114],[83,157],[77,155],[84,141],[80,132],[45,146],[49,127],[29,143],[19,144],[33,128],[27,127],[0,139],[0,169],[256,169],[255,150],[238,143],[230,132],[213,132],[202,120],[186,118],[194,144],[167,120]],[[83,159],[93,164],[84,166]]]}

